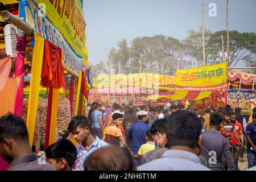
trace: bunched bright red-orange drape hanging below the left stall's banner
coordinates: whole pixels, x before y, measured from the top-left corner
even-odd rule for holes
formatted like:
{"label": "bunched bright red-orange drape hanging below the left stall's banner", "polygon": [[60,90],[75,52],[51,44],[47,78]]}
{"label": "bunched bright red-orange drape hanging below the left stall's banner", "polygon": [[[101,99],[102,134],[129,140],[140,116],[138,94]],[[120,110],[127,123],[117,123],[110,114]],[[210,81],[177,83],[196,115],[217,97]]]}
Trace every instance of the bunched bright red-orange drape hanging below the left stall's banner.
{"label": "bunched bright red-orange drape hanging below the left stall's banner", "polygon": [[61,49],[48,40],[44,42],[42,85],[59,89],[65,87],[65,76],[61,63]]}

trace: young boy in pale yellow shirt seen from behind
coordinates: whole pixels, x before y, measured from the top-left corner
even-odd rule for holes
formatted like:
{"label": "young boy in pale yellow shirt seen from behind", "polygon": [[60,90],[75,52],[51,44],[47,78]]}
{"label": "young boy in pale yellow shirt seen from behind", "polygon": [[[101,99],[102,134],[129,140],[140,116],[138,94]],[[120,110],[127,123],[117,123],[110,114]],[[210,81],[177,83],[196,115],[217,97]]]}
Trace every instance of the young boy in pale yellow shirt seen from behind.
{"label": "young boy in pale yellow shirt seen from behind", "polygon": [[138,151],[137,155],[133,155],[134,158],[141,158],[142,155],[146,154],[147,152],[150,152],[152,150],[155,150],[155,145],[154,142],[152,140],[152,134],[150,132],[150,130],[147,130],[146,133],[146,143],[143,144]]}

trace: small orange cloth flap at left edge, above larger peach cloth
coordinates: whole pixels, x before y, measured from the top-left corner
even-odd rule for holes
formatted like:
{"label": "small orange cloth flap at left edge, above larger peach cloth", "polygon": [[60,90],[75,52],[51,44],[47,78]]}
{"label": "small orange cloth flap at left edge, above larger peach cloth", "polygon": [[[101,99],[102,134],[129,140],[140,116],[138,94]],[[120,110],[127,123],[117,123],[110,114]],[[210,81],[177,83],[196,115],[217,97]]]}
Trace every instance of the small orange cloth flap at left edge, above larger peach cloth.
{"label": "small orange cloth flap at left edge, above larger peach cloth", "polygon": [[0,91],[5,86],[11,70],[11,57],[0,60]]}

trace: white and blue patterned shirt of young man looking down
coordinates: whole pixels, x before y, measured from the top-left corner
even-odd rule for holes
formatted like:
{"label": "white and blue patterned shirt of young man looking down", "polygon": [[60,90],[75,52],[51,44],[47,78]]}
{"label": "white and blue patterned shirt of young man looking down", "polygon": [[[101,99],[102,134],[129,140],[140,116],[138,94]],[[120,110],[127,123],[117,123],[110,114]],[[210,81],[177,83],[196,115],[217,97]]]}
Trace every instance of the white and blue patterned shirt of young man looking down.
{"label": "white and blue patterned shirt of young man looking down", "polygon": [[76,146],[77,149],[77,159],[75,161],[76,171],[84,171],[84,161],[85,159],[94,151],[97,150],[100,147],[108,146],[109,144],[98,138],[92,143],[92,145],[89,147],[88,150],[85,149],[85,147],[82,144],[79,144]]}

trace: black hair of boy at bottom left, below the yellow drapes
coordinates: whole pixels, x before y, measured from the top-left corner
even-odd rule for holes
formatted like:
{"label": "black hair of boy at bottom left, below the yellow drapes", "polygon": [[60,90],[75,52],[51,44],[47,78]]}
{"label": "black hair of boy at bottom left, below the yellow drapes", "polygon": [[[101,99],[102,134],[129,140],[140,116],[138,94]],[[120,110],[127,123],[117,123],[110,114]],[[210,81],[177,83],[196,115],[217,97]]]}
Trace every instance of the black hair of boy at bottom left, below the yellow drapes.
{"label": "black hair of boy at bottom left, below the yellow drapes", "polygon": [[64,158],[72,167],[77,158],[77,149],[69,140],[60,139],[46,149],[46,157],[56,160],[56,163]]}

